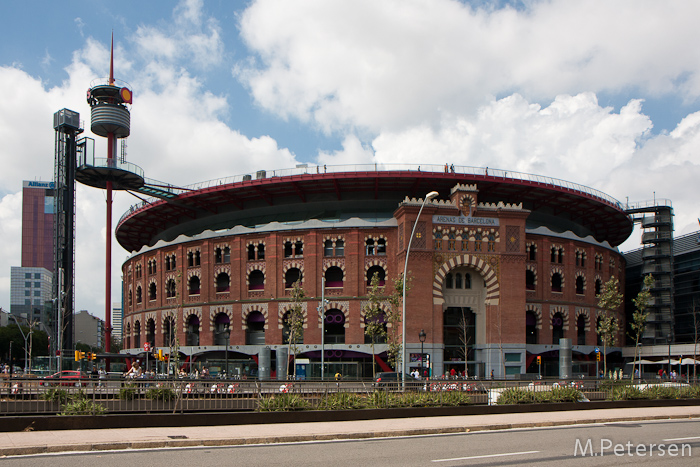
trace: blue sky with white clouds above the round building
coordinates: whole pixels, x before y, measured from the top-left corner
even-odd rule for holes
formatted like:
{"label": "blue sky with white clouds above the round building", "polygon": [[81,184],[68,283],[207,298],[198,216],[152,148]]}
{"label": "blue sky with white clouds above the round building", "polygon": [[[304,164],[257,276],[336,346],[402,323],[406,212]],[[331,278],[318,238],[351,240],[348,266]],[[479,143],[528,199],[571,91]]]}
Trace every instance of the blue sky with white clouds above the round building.
{"label": "blue sky with white clouds above the round building", "polygon": [[[23,180],[53,114],[134,93],[127,160],[175,185],[296,164],[445,163],[547,175],[698,230],[700,2],[51,0],[0,18],[0,307]],[[96,156],[106,157],[104,138]],[[105,193],[79,185],[76,309],[104,317]],[[139,200],[115,195],[113,225]],[[110,233],[113,235],[113,232]],[[129,255],[114,243],[113,300]],[[620,249],[640,247],[637,231]]]}

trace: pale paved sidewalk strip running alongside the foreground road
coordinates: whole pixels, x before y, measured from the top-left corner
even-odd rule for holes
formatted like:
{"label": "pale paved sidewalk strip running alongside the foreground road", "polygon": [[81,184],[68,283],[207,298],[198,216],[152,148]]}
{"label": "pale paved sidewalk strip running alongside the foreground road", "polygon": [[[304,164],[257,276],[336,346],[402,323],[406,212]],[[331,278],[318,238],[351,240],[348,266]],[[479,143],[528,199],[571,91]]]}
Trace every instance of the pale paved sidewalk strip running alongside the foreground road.
{"label": "pale paved sidewalk strip running alongside the foreground road", "polygon": [[700,406],[423,417],[344,422],[0,433],[0,457],[66,451],[233,446],[461,433],[585,423],[700,417]]}

